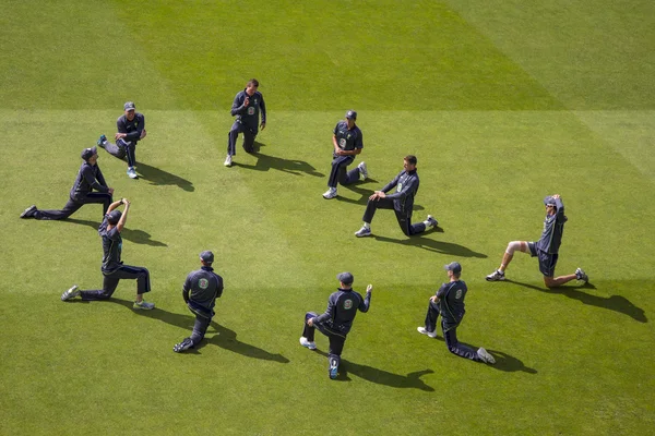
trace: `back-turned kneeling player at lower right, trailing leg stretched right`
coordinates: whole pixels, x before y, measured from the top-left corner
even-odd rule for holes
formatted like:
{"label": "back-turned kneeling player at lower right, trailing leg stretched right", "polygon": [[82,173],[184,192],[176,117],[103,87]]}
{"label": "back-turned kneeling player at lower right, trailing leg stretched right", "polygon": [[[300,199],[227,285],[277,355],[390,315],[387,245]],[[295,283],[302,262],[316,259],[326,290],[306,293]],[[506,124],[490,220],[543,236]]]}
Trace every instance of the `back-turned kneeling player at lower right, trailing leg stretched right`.
{"label": "back-turned kneeling player at lower right, trailing leg stretched right", "polygon": [[418,327],[421,335],[430,338],[437,337],[437,319],[441,315],[441,329],[448,350],[460,358],[471,359],[476,362],[486,362],[493,364],[496,360],[487,350],[479,348],[475,351],[472,348],[460,343],[457,340],[457,326],[464,318],[464,298],[466,296],[466,283],[460,280],[462,275],[462,265],[456,262],[444,266],[448,271],[449,282],[441,284],[436,295],[430,298],[428,314],[426,315],[425,327]]}

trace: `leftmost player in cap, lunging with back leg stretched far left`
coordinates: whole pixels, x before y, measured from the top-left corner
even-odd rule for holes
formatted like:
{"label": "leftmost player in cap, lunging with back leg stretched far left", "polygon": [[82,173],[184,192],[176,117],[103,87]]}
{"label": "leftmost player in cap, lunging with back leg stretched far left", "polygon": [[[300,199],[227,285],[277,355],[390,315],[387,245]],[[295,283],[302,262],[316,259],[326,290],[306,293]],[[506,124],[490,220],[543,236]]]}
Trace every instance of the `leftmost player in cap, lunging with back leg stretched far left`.
{"label": "leftmost player in cap, lunging with back leg stretched far left", "polygon": [[[73,215],[85,204],[103,204],[103,215],[112,202],[114,187],[107,186],[103,171],[98,167],[97,148],[84,148],[82,150],[84,162],[78,171],[78,178],[71,187],[68,203],[61,210],[39,210],[32,205],[21,214],[21,218],[36,218],[46,220],[66,219]],[[97,192],[94,192],[97,191]]]}

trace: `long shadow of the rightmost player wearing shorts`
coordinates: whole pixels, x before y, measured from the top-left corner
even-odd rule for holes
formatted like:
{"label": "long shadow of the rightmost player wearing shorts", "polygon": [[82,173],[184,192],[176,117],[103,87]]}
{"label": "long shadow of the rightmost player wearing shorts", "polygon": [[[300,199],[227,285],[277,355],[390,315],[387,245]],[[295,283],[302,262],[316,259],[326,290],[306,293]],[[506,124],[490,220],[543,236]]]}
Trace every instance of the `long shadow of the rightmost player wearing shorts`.
{"label": "long shadow of the rightmost player wearing shorts", "polygon": [[537,290],[539,292],[546,293],[555,293],[568,296],[573,300],[577,300],[583,304],[588,304],[596,307],[607,308],[609,311],[615,311],[622,313],[624,315],[630,316],[634,320],[640,323],[647,323],[648,318],[646,317],[645,311],[641,307],[635,306],[630,300],[622,295],[611,295],[609,298],[593,295],[586,292],[583,292],[583,289],[596,289],[596,287],[592,283],[585,283],[581,287],[559,287],[559,288],[539,288],[534,284],[522,283],[520,281],[514,280],[505,280],[510,283],[519,284],[524,288],[529,288]]}

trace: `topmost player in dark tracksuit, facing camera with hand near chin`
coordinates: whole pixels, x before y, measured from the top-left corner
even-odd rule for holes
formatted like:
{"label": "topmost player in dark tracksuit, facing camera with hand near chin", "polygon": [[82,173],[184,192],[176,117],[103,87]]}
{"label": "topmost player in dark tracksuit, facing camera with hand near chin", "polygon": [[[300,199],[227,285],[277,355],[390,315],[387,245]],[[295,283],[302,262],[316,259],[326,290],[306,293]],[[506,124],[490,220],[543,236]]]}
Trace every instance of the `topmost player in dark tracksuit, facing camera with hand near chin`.
{"label": "topmost player in dark tracksuit, facing camera with hand near chin", "polygon": [[[266,129],[266,105],[264,96],[257,90],[259,82],[251,78],[246,88],[239,92],[231,107],[231,116],[237,117],[227,135],[227,157],[225,166],[231,167],[233,156],[237,154],[237,137],[243,133],[243,149],[246,153],[254,153],[254,138],[259,133],[258,124],[261,130]],[[262,122],[260,124],[260,113]]]}

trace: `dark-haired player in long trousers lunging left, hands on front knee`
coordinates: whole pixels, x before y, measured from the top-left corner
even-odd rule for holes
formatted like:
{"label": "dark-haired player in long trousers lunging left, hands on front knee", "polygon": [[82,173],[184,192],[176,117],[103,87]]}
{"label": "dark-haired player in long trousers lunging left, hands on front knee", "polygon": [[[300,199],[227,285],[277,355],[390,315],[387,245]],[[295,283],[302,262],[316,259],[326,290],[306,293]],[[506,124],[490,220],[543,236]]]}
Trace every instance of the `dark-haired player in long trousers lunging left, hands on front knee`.
{"label": "dark-haired player in long trousers lunging left, hands on front knee", "polygon": [[[422,233],[428,227],[436,228],[439,223],[431,215],[428,215],[425,221],[412,223],[412,213],[414,210],[414,197],[418,192],[418,172],[416,171],[417,159],[414,155],[405,156],[403,159],[403,171],[401,171],[382,190],[376,191],[368,199],[366,211],[364,213],[364,225],[361,229],[355,232],[357,238],[370,237],[371,221],[378,209],[393,209],[395,211],[398,226],[407,237]],[[388,194],[391,190],[395,192]]]}

